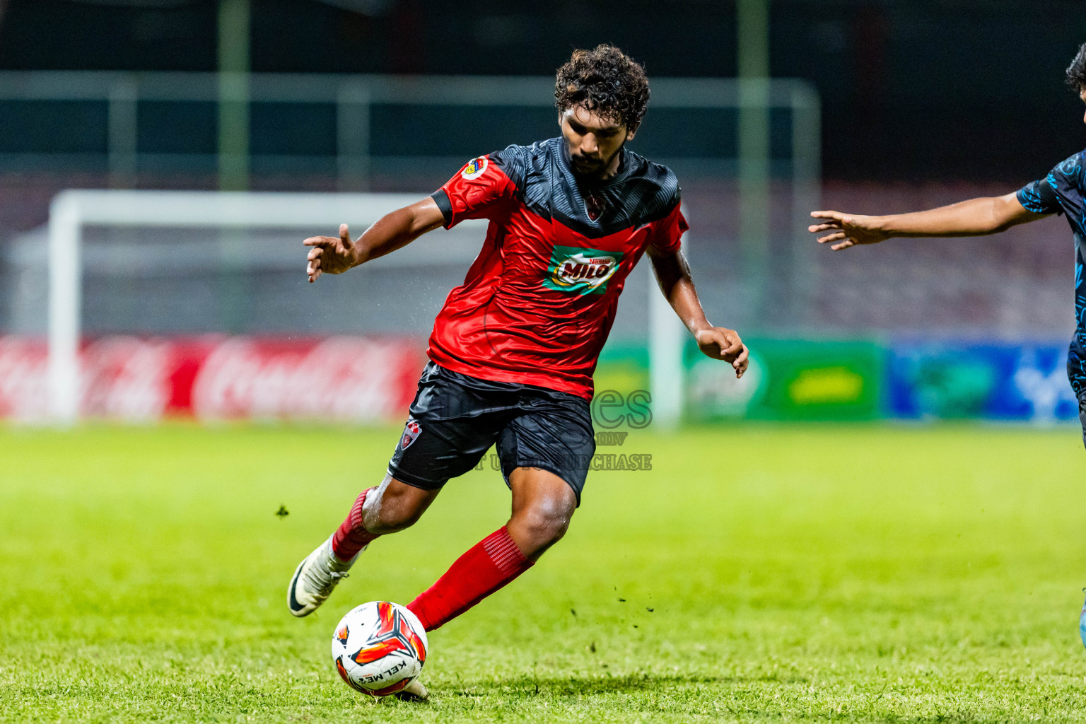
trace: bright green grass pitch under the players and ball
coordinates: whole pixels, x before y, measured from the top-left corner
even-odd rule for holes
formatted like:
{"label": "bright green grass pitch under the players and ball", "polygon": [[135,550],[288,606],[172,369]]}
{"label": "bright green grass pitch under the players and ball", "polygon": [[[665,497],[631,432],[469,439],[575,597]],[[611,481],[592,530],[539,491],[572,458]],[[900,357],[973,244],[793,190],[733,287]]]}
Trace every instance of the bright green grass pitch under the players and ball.
{"label": "bright green grass pitch under the players and ball", "polygon": [[500,526],[498,473],[285,604],[397,434],[0,429],[0,721],[1086,722],[1073,429],[633,432],[653,470],[590,474],[566,539],[431,634],[428,704],[344,686],[332,627]]}

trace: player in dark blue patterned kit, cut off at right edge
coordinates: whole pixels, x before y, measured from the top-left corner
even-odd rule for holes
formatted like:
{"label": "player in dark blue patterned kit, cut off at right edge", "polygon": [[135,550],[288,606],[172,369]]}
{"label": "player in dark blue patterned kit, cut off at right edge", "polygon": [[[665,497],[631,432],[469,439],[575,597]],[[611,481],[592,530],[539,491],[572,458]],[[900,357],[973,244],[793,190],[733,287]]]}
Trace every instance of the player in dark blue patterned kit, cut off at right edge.
{"label": "player in dark blue patterned kit, cut off at right edge", "polygon": [[[1068,68],[1068,85],[1086,102],[1086,43]],[[1086,123],[1086,118],[1084,118]],[[942,208],[893,216],[859,216],[842,212],[811,212],[821,219],[809,231],[829,231],[820,244],[834,251],[857,244],[876,244],[892,237],[980,237],[1006,231],[1051,214],[1066,214],[1075,240],[1075,319],[1077,328],[1068,351],[1068,378],[1078,396],[1078,417],[1086,444],[1086,151],[1057,165],[1045,178],[1014,193],[971,199]],[[1086,611],[1084,611],[1086,626]],[[1086,628],[1084,643],[1086,643]]]}

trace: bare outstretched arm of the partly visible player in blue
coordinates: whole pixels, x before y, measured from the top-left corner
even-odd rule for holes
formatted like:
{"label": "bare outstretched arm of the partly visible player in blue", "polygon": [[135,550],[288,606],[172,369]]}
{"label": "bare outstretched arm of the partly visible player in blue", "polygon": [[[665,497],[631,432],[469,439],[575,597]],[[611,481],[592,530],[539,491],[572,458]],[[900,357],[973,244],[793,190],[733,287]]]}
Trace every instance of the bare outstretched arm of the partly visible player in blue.
{"label": "bare outstretched arm of the partly visible player in blue", "polygon": [[842,212],[811,212],[820,223],[807,227],[811,233],[830,233],[818,240],[838,251],[858,244],[877,244],[893,237],[983,237],[1006,231],[1047,214],[1035,214],[1016,194],[970,199],[950,206],[892,216],[861,216]]}

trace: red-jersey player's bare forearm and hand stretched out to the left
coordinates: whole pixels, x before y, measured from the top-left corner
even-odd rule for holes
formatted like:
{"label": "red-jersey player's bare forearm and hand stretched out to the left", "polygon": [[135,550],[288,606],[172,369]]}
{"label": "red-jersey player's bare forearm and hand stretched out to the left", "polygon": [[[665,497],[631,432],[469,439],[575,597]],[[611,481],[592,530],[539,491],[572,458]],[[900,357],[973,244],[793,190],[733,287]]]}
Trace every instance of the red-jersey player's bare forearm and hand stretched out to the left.
{"label": "red-jersey player's bare forearm and hand stretched out to the left", "polygon": [[438,204],[427,196],[377,219],[356,241],[351,241],[350,229],[341,224],[339,237],[310,237],[302,242],[312,246],[306,256],[305,274],[311,282],[323,274],[343,274],[351,267],[406,246],[444,223]]}

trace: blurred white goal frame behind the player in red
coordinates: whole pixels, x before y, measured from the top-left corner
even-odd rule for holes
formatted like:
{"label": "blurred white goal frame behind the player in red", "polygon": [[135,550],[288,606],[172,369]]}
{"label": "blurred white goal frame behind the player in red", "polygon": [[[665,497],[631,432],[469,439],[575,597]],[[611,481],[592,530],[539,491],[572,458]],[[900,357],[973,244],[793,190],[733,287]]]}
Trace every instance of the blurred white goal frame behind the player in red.
{"label": "blurred white goal frame behind the player in red", "polygon": [[[84,236],[88,227],[152,229],[294,229],[334,233],[342,223],[352,234],[384,214],[418,201],[416,193],[279,193],[217,191],[70,190],[52,202],[49,217],[48,409],[54,424],[78,421],[83,389]],[[455,264],[463,279],[485,237],[484,219],[431,233],[409,249],[366,266],[409,268],[418,259]],[[225,234],[224,234],[225,238]],[[137,250],[138,251],[138,250]],[[282,250],[278,250],[282,251]],[[291,254],[295,252],[290,252]],[[304,252],[296,247],[298,275]],[[293,261],[291,258],[291,264]],[[644,264],[649,277],[651,265]],[[417,270],[417,274],[422,274]],[[451,288],[451,287],[450,287]],[[647,340],[654,419],[671,427],[682,417],[684,330],[655,281],[648,284]],[[449,290],[445,289],[445,292]]]}

